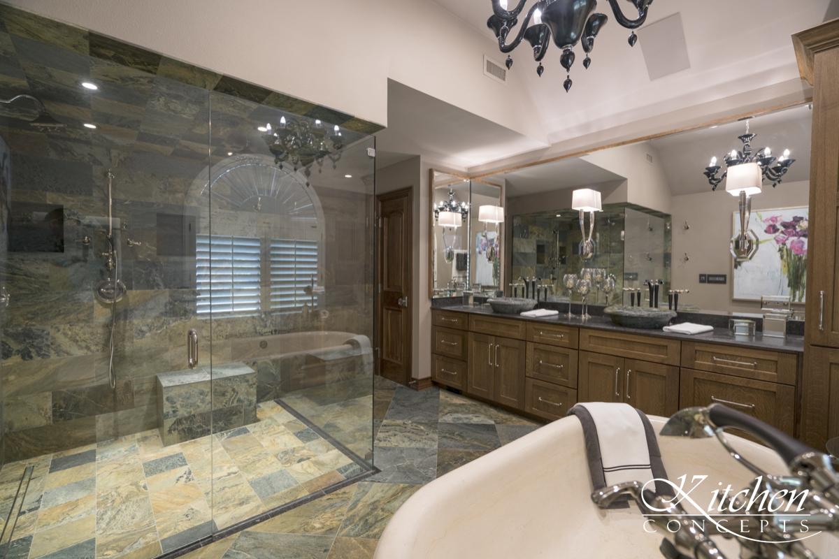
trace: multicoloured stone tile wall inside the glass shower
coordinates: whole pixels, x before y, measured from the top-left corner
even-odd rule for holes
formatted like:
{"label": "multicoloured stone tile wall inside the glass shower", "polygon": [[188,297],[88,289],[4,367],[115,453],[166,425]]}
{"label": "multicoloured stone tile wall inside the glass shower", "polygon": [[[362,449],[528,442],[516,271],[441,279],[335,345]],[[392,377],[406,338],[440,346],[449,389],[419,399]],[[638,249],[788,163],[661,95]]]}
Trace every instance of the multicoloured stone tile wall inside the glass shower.
{"label": "multicoloured stone tile wall inside the glass shower", "polygon": [[[79,87],[86,78],[100,85],[95,96]],[[253,132],[253,122],[264,122],[260,111],[322,118],[349,131],[348,140],[376,130],[324,107],[0,5],[0,96],[21,92],[39,96],[69,126],[35,131],[28,107],[0,114],[0,137],[11,152],[9,234],[26,231],[50,209],[64,210],[61,251],[26,250],[31,247],[18,238],[3,242],[14,250],[5,257],[0,252],[0,280],[13,294],[0,323],[0,446],[7,462],[156,428],[156,375],[185,368],[190,328],[199,331],[205,352],[212,339],[205,364],[229,362],[232,339],[300,329],[295,314],[260,313],[213,319],[211,333],[211,321],[196,316],[194,236],[210,231],[210,200],[201,195],[208,163],[228,150],[267,153],[246,132]],[[263,120],[251,120],[256,118]],[[82,122],[98,128],[88,131]],[[117,303],[113,390],[111,308],[93,296],[107,274],[101,253],[107,248],[108,168],[115,175],[120,276],[128,287]],[[323,280],[330,313],[315,327],[372,333],[365,220],[371,198],[321,187],[316,177],[312,182],[331,215],[321,233],[329,255]],[[247,225],[254,213],[230,211],[224,218]],[[128,246],[128,239],[140,244]]]}

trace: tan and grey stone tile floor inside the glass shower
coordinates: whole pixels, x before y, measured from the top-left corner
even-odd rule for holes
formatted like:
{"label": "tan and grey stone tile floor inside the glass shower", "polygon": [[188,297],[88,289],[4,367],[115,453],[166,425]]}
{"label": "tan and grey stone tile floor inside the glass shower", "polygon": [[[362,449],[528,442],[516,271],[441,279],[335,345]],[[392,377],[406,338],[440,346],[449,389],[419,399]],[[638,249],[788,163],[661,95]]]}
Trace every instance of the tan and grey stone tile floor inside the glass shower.
{"label": "tan and grey stone tile floor inside the glass shower", "polygon": [[[260,404],[258,419],[213,435],[212,443],[202,437],[164,447],[151,430],[6,464],[0,470],[3,520],[24,469],[32,465],[34,472],[0,553],[8,559],[154,557],[362,473],[279,404]],[[258,546],[264,536],[253,533],[239,545],[253,537]]]}

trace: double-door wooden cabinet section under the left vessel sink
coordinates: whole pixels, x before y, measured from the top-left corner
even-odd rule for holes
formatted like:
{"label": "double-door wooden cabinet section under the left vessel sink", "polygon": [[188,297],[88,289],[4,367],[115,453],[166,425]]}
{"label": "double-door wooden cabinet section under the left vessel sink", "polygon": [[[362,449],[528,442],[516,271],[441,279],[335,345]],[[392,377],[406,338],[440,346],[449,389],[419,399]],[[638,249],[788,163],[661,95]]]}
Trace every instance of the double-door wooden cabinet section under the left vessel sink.
{"label": "double-door wooden cabinet section under the left vessel sink", "polygon": [[470,332],[466,393],[522,408],[525,347],[521,339]]}

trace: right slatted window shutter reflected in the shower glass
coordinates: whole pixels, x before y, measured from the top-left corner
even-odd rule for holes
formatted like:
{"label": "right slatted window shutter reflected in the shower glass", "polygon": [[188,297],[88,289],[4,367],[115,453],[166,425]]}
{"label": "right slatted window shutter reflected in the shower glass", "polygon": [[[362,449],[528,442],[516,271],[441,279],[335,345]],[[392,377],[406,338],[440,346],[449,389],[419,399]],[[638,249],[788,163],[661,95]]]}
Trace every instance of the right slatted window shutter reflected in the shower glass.
{"label": "right slatted window shutter reflected in the shower glass", "polygon": [[[311,303],[306,287],[317,284],[317,241],[274,239],[269,247],[271,267],[271,308],[294,311]],[[318,304],[318,296],[314,298]]]}

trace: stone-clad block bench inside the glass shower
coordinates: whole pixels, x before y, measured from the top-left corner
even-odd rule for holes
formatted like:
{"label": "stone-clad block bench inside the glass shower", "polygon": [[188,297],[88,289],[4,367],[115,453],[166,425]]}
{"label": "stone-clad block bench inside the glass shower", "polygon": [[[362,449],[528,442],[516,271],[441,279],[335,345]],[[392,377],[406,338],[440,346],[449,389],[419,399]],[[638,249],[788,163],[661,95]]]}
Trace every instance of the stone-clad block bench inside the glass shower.
{"label": "stone-clad block bench inside the glass shower", "polygon": [[257,373],[243,363],[157,375],[164,446],[257,422]]}

